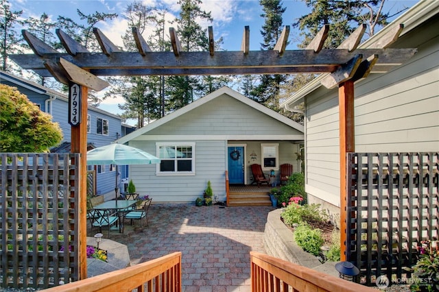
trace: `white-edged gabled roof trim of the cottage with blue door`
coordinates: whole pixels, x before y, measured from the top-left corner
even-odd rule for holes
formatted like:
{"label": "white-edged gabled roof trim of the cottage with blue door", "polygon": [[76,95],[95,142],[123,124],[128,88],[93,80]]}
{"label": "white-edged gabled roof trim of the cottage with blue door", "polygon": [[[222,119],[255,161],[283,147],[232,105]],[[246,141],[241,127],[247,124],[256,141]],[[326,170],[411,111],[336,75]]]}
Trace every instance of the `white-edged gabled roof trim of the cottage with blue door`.
{"label": "white-edged gabled roof trim of the cottage with blue door", "polygon": [[256,101],[253,101],[252,99],[249,99],[248,97],[241,95],[241,93],[238,93],[237,91],[228,88],[226,86],[219,88],[213,93],[210,93],[209,95],[206,95],[205,97],[202,97],[200,99],[197,99],[196,101],[193,101],[191,104],[180,108],[179,110],[176,110],[175,112],[171,112],[170,114],[167,114],[165,117],[158,119],[157,121],[154,121],[150,123],[149,125],[146,125],[145,127],[141,127],[139,130],[136,130],[126,136],[123,136],[119,138],[116,143],[127,143],[128,141],[133,140],[134,138],[137,138],[143,134],[146,134],[147,132],[150,132],[151,130],[154,130],[156,127],[160,127],[161,125],[164,125],[165,123],[168,123],[169,121],[172,121],[173,119],[176,119],[183,114],[186,114],[187,112],[190,112],[191,110],[194,110],[195,108],[198,108],[209,101],[213,101],[213,99],[216,99],[218,97],[221,97],[222,95],[228,95],[229,97],[233,97],[234,99],[237,99],[237,101],[242,102],[243,104],[246,104],[254,110],[258,110],[259,112],[262,112],[263,114],[267,114],[268,116],[272,117],[273,119],[276,119],[277,121],[284,123],[285,125],[288,125],[289,127],[294,128],[295,130],[298,130],[300,132],[304,132],[303,125],[300,125],[300,123],[296,123],[295,121],[292,121],[292,119],[289,119],[282,114],[279,114],[278,112],[275,112],[274,110],[271,110],[270,108],[267,108],[261,104],[258,104]]}

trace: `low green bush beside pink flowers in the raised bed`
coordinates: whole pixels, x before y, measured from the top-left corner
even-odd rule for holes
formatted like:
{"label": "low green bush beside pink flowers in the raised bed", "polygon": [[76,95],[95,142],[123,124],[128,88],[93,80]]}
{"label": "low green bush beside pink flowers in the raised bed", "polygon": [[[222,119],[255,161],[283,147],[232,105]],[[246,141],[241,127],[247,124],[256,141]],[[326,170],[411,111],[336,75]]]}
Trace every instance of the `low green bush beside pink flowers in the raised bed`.
{"label": "low green bush beside pink flowers in the raised bed", "polygon": [[320,210],[320,204],[298,205],[292,203],[283,210],[281,217],[288,226],[293,226],[293,223],[308,221],[325,222],[328,220],[327,212]]}

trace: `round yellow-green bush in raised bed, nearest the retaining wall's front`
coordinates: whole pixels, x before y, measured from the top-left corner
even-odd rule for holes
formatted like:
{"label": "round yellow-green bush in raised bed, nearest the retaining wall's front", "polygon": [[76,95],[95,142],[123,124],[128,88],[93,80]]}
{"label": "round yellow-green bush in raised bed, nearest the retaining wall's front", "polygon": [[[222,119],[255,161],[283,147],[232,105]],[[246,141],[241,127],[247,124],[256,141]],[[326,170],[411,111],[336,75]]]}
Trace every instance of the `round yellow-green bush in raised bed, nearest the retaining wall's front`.
{"label": "round yellow-green bush in raised bed, nearest the retaining wall's front", "polygon": [[311,229],[307,224],[301,224],[294,230],[294,241],[296,241],[298,246],[302,247],[305,252],[309,252],[314,256],[320,254],[320,247],[324,243],[321,230]]}

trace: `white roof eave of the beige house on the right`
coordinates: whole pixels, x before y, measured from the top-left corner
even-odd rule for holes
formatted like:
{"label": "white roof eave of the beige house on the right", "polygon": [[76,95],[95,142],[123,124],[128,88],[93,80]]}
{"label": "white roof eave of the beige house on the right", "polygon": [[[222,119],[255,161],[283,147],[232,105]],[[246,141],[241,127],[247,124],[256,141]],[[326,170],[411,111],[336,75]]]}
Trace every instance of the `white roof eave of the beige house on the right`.
{"label": "white roof eave of the beige house on the right", "polygon": [[[358,48],[368,49],[373,45],[376,45],[377,41],[381,38],[385,38],[385,36],[387,36],[389,32],[392,31],[394,26],[403,23],[404,29],[403,32],[401,32],[400,34],[401,37],[404,34],[411,32],[420,24],[427,21],[427,19],[430,19],[431,17],[435,16],[438,13],[439,13],[439,1],[428,1],[428,0],[419,1],[412,8],[410,8],[410,10],[407,10],[407,12],[405,12],[397,19],[392,21],[392,23],[390,23],[386,27],[383,27],[383,29],[377,32],[377,34],[375,34],[374,36],[363,42],[361,45],[359,45]],[[305,84],[305,86],[300,88],[300,90],[294,93],[294,95],[292,95],[288,99],[285,99],[285,101],[281,103],[281,108],[286,108],[287,110],[290,110],[294,106],[301,104],[305,96],[309,95],[309,93],[312,93],[314,90],[317,90],[322,86],[320,82],[324,79],[324,77],[327,77],[327,75],[329,74],[330,73],[320,74],[318,75],[318,77],[316,77],[316,79]]]}

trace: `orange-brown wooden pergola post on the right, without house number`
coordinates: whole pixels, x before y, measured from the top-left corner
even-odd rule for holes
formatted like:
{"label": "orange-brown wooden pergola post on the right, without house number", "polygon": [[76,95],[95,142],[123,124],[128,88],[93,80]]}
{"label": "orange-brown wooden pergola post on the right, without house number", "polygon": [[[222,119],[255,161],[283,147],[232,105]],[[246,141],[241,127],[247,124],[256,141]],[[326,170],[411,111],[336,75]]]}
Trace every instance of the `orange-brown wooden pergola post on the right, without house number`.
{"label": "orange-brown wooden pergola post on the right, without house number", "polygon": [[355,151],[354,82],[342,82],[338,88],[340,115],[340,260],[346,260],[346,153]]}

